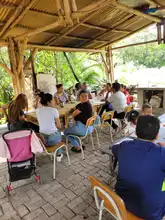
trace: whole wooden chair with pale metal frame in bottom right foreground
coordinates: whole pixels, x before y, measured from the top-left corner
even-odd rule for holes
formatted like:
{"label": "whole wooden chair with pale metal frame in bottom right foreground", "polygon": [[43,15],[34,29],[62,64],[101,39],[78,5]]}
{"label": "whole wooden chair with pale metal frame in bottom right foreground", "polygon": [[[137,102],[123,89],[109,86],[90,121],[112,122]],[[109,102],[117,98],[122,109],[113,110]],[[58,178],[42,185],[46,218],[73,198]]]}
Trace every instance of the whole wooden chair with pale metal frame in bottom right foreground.
{"label": "whole wooden chair with pale metal frame in bottom right foreground", "polygon": [[143,220],[128,212],[123,200],[106,185],[93,176],[90,176],[89,180],[94,190],[96,206],[99,209],[99,220],[102,220],[104,209],[116,220]]}

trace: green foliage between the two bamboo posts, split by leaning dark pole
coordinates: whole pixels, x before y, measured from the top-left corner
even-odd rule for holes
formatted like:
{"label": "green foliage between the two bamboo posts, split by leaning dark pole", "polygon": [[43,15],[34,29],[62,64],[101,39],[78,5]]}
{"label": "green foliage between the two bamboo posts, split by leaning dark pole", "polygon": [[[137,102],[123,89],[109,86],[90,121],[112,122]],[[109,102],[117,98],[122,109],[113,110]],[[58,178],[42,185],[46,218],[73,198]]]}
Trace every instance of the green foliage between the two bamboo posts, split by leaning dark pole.
{"label": "green foliage between the two bamboo posts, split by leaning dark pole", "polygon": [[[67,56],[81,82],[86,81],[92,87],[100,83],[100,78],[105,78],[104,67],[99,55],[67,53]],[[35,69],[36,72],[53,74],[57,82],[63,83],[66,88],[77,82],[64,54],[61,52],[38,52],[35,58]]]}

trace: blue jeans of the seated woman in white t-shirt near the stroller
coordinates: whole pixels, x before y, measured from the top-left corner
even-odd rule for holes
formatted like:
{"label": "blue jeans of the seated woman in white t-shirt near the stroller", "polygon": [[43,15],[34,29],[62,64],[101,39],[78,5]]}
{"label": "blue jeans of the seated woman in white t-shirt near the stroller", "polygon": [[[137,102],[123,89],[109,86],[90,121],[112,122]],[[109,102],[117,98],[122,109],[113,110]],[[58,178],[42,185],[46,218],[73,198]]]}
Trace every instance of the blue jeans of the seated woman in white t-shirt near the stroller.
{"label": "blue jeans of the seated woman in white t-shirt near the stroller", "polygon": [[[59,131],[52,133],[50,135],[43,134],[43,133],[41,133],[41,134],[45,139],[46,145],[49,147],[60,143],[62,140],[61,133]],[[57,154],[61,154],[61,153],[62,153],[62,149],[59,149]]]}

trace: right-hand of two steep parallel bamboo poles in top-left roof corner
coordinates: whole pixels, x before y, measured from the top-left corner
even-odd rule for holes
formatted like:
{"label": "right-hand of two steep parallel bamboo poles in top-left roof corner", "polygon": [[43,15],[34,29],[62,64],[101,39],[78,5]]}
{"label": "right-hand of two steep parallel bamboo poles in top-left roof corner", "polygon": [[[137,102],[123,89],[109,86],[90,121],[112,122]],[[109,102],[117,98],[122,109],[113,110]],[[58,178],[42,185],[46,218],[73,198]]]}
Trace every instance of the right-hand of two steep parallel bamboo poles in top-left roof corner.
{"label": "right-hand of two steep parallel bamboo poles in top-left roof corner", "polygon": [[25,9],[21,12],[21,14],[15,19],[15,21],[9,26],[9,28],[6,30],[6,32],[3,34],[4,36],[6,36],[6,34],[13,28],[16,26],[16,24],[19,23],[19,21],[26,15],[26,13],[28,12],[28,10],[32,7],[32,5],[36,2],[36,0],[31,0],[29,2],[29,4],[27,4],[27,6],[25,7]]}

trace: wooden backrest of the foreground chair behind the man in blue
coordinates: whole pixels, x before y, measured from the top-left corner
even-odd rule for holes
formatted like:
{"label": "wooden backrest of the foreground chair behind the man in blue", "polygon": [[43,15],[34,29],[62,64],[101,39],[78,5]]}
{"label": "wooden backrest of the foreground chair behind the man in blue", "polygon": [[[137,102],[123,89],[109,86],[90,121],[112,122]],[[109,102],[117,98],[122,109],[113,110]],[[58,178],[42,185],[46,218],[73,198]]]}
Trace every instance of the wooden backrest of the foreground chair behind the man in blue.
{"label": "wooden backrest of the foreground chair behind the man in blue", "polygon": [[98,199],[104,201],[104,207],[117,219],[127,220],[127,210],[123,200],[110,188],[102,184],[98,179],[93,176],[89,177],[94,195],[96,205],[98,206]]}

